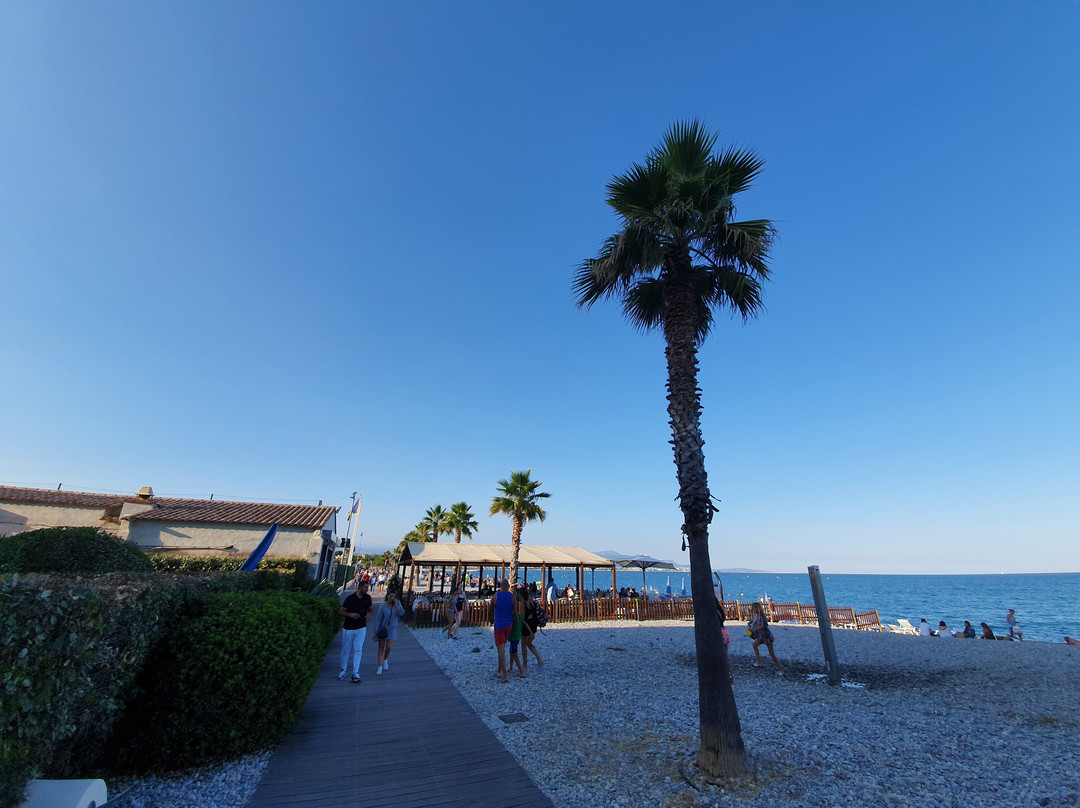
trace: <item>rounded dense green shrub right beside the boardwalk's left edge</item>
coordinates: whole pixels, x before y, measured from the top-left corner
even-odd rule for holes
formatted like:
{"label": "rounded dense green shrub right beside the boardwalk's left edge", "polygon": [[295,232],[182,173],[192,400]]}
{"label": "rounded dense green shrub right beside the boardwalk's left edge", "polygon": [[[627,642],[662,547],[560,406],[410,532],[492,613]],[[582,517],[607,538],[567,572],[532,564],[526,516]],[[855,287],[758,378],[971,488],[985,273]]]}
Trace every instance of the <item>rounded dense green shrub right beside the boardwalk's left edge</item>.
{"label": "rounded dense green shrub right beside the boardwalk's left edge", "polygon": [[337,610],[336,598],[303,593],[208,595],[148,665],[110,765],[168,771],[276,743],[303,708]]}

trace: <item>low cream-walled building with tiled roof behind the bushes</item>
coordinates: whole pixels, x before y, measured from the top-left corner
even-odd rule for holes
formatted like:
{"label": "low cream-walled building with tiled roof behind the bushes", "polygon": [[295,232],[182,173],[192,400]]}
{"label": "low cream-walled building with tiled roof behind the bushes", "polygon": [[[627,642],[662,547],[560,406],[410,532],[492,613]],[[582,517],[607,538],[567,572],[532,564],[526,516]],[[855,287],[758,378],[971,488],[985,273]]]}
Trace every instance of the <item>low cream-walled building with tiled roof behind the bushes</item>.
{"label": "low cream-walled building with tiled roof behind the bushes", "polygon": [[325,578],[337,548],[332,506],[173,499],[138,494],[93,494],[0,486],[0,536],[39,527],[100,527],[147,552],[234,555],[243,561],[270,525],[278,535],[269,555],[305,558],[309,575]]}

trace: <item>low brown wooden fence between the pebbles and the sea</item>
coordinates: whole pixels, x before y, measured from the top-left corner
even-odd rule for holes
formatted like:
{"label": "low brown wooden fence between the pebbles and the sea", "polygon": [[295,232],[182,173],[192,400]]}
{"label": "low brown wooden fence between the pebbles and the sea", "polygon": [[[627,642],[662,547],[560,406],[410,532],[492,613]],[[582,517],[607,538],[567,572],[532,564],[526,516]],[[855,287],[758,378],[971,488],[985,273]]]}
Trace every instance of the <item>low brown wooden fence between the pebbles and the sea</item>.
{"label": "low brown wooden fence between the pebbles and the sea", "polygon": [[[757,601],[725,601],[724,616],[727,620],[748,620],[751,607],[758,605]],[[573,623],[596,620],[692,620],[693,601],[689,597],[678,597],[669,601],[645,601],[637,597],[599,598],[594,601],[567,601],[561,598],[549,603],[548,622]],[[818,611],[813,604],[806,603],[768,603],[766,615],[770,622],[797,622],[800,625],[816,625]],[[855,610],[850,606],[829,606],[828,620],[837,629],[863,629],[881,631],[881,619],[877,609],[870,611]],[[442,603],[414,604],[411,624],[418,629],[446,624],[446,615]],[[470,601],[469,610],[462,625],[490,625],[491,602],[487,600]]]}

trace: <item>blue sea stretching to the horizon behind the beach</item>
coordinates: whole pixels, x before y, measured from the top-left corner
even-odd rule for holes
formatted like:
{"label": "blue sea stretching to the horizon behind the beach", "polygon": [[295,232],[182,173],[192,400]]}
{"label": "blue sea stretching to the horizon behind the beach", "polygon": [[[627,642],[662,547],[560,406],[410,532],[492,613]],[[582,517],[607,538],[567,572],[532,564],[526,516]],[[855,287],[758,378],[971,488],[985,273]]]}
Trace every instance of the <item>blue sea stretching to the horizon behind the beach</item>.
{"label": "blue sea stretching to the horizon behind the beach", "polygon": [[[573,570],[555,570],[555,583],[565,587],[576,579]],[[649,589],[663,593],[671,582],[672,594],[686,587],[690,574],[646,571]],[[753,601],[768,595],[773,601],[813,603],[810,577],[806,573],[725,573],[727,600]],[[592,581],[595,580],[595,583]],[[642,589],[639,569],[620,570],[619,587]],[[825,600],[829,606],[853,606],[855,611],[877,609],[881,622],[906,618],[918,625],[926,618],[935,629],[944,620],[956,631],[970,620],[980,631],[985,621],[995,634],[1008,634],[1005,614],[1016,609],[1024,639],[1061,643],[1067,634],[1080,637],[1080,573],[1038,575],[823,575]],[[608,589],[610,574],[585,573],[585,585]]]}

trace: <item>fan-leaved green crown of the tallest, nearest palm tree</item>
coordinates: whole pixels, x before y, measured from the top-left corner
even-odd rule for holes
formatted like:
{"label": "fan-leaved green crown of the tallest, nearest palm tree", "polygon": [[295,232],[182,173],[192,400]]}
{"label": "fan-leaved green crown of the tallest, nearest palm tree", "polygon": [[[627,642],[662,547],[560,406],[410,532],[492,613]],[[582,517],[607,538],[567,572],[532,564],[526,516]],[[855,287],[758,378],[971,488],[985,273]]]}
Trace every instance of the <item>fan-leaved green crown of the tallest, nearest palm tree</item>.
{"label": "fan-leaved green crown of the tallest, nearest palm tree", "polygon": [[[745,149],[714,154],[715,145],[716,135],[698,121],[675,123],[645,164],[608,183],[607,203],[622,229],[578,268],[580,307],[619,297],[626,319],[645,331],[690,314],[696,344],[708,334],[714,309],[743,318],[761,309],[774,229],[768,219],[732,217],[734,196],[750,188],[765,162]],[[673,308],[679,301],[669,288],[685,284],[692,293],[689,312]]]}

